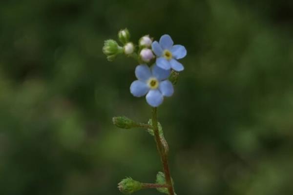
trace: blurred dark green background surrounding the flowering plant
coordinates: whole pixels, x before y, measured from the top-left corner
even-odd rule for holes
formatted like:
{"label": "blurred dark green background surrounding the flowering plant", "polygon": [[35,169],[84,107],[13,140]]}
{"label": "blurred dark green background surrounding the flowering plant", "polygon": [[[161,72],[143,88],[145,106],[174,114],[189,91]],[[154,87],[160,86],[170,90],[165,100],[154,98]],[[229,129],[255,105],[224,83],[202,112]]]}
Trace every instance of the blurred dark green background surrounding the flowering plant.
{"label": "blurred dark green background surrounding the flowering plant", "polygon": [[177,194],[292,195],[290,0],[1,0],[0,195],[120,195],[125,176],[155,180],[153,137],[111,121],[151,112],[129,93],[136,62],[102,53],[125,27],[188,50],[158,110]]}

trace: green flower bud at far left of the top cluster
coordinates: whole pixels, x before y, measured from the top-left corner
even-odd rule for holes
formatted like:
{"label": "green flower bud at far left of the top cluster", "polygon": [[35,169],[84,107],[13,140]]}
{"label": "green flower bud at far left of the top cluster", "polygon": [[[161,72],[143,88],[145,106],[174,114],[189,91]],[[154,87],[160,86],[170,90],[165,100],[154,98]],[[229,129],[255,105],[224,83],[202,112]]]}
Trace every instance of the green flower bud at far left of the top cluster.
{"label": "green flower bud at far left of the top cluster", "polygon": [[103,53],[107,56],[109,61],[113,61],[118,54],[123,52],[123,48],[113,39],[105,40]]}

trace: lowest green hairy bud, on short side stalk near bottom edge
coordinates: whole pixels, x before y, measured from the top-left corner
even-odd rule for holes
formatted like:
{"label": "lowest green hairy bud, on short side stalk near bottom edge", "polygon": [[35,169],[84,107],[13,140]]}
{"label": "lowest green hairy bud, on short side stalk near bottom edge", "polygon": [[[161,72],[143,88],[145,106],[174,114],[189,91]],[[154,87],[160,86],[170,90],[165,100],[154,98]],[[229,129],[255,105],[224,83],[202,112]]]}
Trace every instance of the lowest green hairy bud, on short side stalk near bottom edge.
{"label": "lowest green hairy bud, on short side stalk near bottom edge", "polygon": [[142,189],[142,183],[139,181],[133,180],[131,177],[126,177],[122,179],[120,183],[118,183],[118,189],[125,195],[130,195],[136,191]]}

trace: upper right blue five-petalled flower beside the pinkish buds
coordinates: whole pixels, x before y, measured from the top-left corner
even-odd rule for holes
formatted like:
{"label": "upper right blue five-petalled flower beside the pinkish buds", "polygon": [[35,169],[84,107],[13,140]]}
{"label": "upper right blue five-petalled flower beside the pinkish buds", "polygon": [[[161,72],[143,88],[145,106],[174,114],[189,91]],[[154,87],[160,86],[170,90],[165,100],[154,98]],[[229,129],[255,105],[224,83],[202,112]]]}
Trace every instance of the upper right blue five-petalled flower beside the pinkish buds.
{"label": "upper right blue five-petalled flower beside the pinkish buds", "polygon": [[176,59],[184,58],[187,51],[184,46],[173,44],[174,42],[169,35],[163,35],[159,42],[154,41],[152,43],[152,50],[158,57],[156,64],[165,70],[172,68],[175,71],[183,71],[183,65]]}

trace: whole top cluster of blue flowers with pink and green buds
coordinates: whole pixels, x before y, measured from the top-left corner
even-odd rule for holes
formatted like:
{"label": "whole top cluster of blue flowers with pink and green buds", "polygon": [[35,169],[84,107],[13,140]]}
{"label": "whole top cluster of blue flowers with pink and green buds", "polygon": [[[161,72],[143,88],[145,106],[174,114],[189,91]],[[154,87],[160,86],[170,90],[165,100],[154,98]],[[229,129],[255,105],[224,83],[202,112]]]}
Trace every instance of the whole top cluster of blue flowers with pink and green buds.
{"label": "whole top cluster of blue flowers with pink and green buds", "polygon": [[137,80],[131,83],[130,93],[135,97],[146,95],[146,102],[152,107],[158,107],[164,97],[170,97],[174,93],[170,80],[184,70],[178,59],[187,55],[185,47],[174,45],[169,35],[163,35],[159,42],[153,41],[146,35],[139,39],[138,53],[136,53],[137,48],[129,42],[130,34],[127,29],[121,30],[118,38],[124,44],[123,47],[114,40],[105,41],[103,52],[107,55],[107,59],[113,60],[122,53],[137,59],[139,62],[135,68]]}

